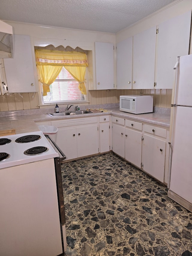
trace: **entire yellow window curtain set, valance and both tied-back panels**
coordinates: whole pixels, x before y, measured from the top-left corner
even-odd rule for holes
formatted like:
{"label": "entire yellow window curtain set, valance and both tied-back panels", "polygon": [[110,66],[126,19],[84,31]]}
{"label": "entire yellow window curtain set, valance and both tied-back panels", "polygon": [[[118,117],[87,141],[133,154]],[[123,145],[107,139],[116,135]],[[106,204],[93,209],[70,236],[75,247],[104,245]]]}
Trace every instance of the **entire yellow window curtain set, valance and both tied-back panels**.
{"label": "entire yellow window curtain set, valance and both tied-back panels", "polygon": [[79,90],[86,95],[85,71],[88,67],[85,53],[54,50],[35,50],[36,65],[39,71],[39,81],[43,84],[43,96],[50,91],[52,84],[65,67],[72,77],[79,82]]}

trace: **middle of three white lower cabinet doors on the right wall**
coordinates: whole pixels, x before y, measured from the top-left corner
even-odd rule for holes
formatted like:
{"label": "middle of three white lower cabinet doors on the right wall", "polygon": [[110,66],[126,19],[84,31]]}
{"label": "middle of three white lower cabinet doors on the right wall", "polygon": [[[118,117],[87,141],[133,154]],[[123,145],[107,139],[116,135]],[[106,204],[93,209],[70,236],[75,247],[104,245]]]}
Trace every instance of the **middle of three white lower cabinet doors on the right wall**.
{"label": "middle of three white lower cabinet doors on the right wall", "polygon": [[125,159],[141,167],[142,132],[125,128]]}

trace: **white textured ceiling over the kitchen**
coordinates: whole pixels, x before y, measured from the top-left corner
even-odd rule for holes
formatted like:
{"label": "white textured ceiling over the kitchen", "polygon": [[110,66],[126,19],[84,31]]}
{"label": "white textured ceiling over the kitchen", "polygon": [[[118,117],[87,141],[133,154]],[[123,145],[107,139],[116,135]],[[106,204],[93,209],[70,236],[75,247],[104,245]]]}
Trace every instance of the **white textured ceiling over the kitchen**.
{"label": "white textured ceiling over the kitchen", "polygon": [[177,0],[0,0],[0,20],[116,33]]}

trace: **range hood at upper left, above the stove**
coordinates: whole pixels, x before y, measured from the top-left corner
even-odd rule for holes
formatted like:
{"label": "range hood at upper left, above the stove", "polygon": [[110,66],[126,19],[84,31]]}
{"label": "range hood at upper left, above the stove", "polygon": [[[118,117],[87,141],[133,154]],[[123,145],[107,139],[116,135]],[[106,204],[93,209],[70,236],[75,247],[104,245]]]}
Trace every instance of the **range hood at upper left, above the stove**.
{"label": "range hood at upper left, above the stove", "polygon": [[0,58],[13,58],[13,28],[0,20]]}

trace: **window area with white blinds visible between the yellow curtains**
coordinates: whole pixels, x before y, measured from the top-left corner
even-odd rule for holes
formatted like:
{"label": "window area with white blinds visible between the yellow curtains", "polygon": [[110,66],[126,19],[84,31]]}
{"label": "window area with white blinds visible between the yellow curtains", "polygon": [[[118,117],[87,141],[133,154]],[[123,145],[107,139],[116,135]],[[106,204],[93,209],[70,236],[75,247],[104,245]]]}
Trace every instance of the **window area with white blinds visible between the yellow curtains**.
{"label": "window area with white blinds visible between the yellow curtains", "polygon": [[42,96],[44,104],[86,101],[86,95],[79,90],[79,83],[64,67],[49,88],[50,92]]}

